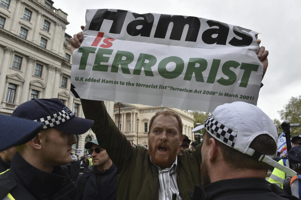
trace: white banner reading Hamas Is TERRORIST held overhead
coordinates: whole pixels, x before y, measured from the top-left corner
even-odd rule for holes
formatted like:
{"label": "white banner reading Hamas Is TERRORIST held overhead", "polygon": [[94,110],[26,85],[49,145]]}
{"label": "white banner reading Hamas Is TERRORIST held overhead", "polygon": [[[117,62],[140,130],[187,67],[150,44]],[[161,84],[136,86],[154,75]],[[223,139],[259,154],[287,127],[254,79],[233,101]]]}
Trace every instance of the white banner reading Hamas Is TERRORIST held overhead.
{"label": "white banner reading Hamas Is TERRORIST held overhead", "polygon": [[256,105],[263,73],[256,34],[197,17],[87,10],[71,91],[77,98],[185,110]]}

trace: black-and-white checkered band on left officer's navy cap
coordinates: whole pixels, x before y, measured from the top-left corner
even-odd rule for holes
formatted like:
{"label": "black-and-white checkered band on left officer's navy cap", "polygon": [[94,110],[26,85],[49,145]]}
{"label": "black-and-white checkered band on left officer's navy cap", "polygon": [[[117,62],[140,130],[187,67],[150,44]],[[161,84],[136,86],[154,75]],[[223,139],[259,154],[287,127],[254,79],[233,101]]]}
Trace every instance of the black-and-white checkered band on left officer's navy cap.
{"label": "black-and-white checkered band on left officer's navy cap", "polygon": [[[66,111],[65,111],[66,110]],[[68,112],[69,111],[69,112]],[[51,128],[64,123],[74,117],[73,112],[66,106],[61,112],[36,119],[34,121],[42,122],[44,124],[43,128]]]}

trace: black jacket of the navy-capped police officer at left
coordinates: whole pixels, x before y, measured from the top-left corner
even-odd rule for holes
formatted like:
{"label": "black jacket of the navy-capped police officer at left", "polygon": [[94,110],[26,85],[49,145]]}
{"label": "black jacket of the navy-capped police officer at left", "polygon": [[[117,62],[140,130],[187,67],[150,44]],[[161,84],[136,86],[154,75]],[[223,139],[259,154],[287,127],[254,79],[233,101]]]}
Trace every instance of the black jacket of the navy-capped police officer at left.
{"label": "black jacket of the navy-capped police officer at left", "polygon": [[10,193],[16,200],[79,200],[79,192],[61,167],[52,173],[26,162],[17,152],[10,170],[0,176],[0,199]]}

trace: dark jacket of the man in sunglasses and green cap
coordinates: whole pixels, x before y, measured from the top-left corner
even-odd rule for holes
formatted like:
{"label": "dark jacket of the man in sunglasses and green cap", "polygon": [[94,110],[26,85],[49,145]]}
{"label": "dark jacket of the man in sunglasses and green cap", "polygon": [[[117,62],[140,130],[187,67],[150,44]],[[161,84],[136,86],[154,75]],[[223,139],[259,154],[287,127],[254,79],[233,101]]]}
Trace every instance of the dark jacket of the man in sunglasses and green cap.
{"label": "dark jacket of the man in sunglasses and green cap", "polygon": [[76,186],[83,200],[115,200],[117,177],[118,172],[114,164],[102,172],[92,165],[78,177]]}

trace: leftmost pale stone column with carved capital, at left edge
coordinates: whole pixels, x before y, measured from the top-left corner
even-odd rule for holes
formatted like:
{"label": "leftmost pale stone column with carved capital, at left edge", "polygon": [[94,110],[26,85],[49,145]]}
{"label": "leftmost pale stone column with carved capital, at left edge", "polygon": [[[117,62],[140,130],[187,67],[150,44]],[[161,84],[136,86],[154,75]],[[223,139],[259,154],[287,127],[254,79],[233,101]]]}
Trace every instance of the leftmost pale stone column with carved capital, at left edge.
{"label": "leftmost pale stone column with carved capital, at left edge", "polygon": [[14,51],[14,49],[12,49],[8,46],[4,47],[3,61],[2,61],[1,69],[0,69],[0,97],[2,97],[0,99],[0,105],[1,105],[1,101],[5,98],[4,91],[6,90],[5,89],[6,73],[7,73],[7,69],[8,69],[10,56],[13,53],[13,51]]}

